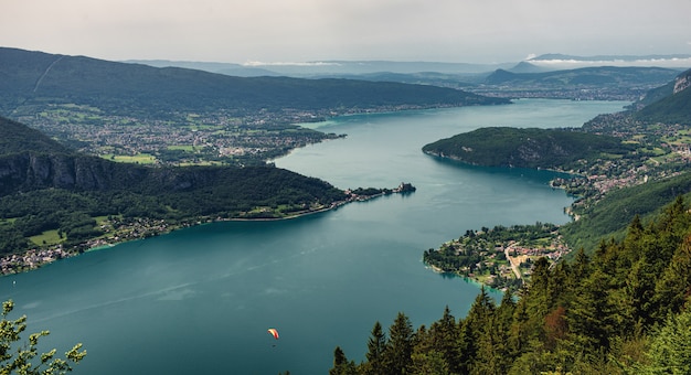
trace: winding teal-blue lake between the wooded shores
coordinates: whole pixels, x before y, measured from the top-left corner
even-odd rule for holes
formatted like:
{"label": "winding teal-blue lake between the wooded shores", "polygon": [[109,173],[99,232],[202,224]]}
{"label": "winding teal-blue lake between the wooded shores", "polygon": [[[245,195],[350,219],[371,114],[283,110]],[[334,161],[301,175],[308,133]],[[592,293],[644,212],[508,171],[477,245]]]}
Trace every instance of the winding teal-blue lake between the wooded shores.
{"label": "winding teal-blue lake between the wooded shores", "polygon": [[84,343],[74,374],[327,374],[337,345],[362,361],[374,322],[387,329],[398,311],[415,328],[446,306],[465,315],[479,287],[433,272],[424,250],[482,226],[568,221],[572,199],[548,185],[554,173],[468,167],[425,156],[424,144],[486,126],[578,127],[626,104],[521,99],[312,124],[348,137],[277,167],[341,189],[417,191],[89,251],[0,278],[0,298],[14,300],[11,318],[26,314],[30,332],[51,331],[46,349]]}

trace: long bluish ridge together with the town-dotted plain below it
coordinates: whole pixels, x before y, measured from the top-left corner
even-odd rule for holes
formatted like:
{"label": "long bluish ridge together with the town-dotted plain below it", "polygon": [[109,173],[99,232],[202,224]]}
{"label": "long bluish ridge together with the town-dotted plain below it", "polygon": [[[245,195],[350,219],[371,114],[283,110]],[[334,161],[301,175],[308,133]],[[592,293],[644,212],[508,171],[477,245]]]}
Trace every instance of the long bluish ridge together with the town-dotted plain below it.
{"label": "long bluish ridge together with the town-dotted plain below it", "polygon": [[113,160],[261,164],[337,137],[296,124],[509,103],[433,85],[233,77],[0,47],[0,116]]}

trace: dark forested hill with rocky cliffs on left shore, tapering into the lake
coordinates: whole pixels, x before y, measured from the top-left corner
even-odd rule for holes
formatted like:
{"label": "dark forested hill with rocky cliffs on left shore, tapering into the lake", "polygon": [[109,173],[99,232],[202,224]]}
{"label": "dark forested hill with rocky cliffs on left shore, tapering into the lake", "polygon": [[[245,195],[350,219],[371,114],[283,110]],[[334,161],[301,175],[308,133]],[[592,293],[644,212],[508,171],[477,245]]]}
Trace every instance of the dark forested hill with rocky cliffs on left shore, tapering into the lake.
{"label": "dark forested hill with rocky cliffs on left shore, tapering into the lake", "polygon": [[68,152],[3,118],[0,139],[0,254],[77,245],[105,235],[115,222],[140,221],[141,229],[164,221],[157,225],[166,232],[200,219],[284,217],[346,197],[327,182],[269,165],[115,163]]}

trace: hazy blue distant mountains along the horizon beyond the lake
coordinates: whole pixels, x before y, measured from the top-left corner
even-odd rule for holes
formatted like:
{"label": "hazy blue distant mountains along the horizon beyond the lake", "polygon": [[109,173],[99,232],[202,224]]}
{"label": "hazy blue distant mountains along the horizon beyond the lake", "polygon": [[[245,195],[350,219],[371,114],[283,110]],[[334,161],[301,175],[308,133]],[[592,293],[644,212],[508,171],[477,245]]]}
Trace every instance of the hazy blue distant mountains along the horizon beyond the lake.
{"label": "hazy blue distant mountains along the horizon beyond the lake", "polygon": [[[521,62],[467,64],[393,61],[319,61],[245,64],[130,61],[237,76],[347,78],[433,85],[480,95],[636,100],[691,67],[691,55],[544,54]],[[605,88],[606,90],[602,90]],[[566,93],[571,90],[571,93]],[[580,94],[578,90],[589,93]],[[523,92],[523,93],[519,93]],[[561,93],[556,93],[561,92]],[[595,94],[593,94],[595,93]]]}

